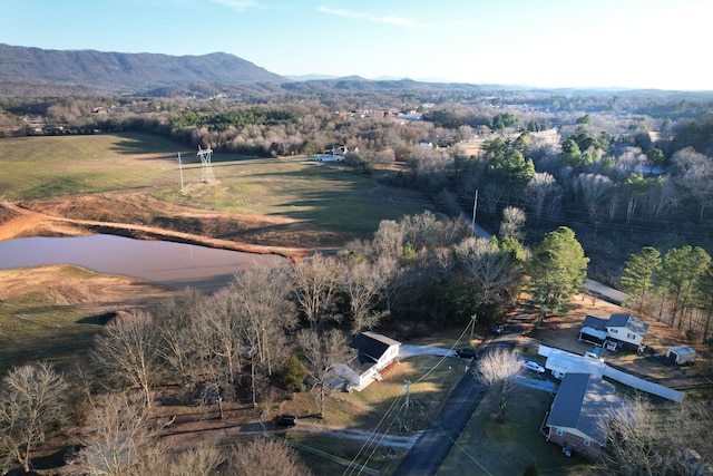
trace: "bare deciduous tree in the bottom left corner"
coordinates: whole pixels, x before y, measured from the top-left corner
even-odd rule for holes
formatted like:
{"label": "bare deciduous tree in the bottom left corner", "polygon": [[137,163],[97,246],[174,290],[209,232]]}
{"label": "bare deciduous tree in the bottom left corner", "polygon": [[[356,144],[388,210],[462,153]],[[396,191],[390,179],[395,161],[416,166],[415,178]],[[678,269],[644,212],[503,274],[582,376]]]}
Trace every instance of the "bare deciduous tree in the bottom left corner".
{"label": "bare deciduous tree in the bottom left corner", "polygon": [[0,455],[30,470],[30,453],[65,420],[68,385],[49,363],[8,372],[0,388]]}

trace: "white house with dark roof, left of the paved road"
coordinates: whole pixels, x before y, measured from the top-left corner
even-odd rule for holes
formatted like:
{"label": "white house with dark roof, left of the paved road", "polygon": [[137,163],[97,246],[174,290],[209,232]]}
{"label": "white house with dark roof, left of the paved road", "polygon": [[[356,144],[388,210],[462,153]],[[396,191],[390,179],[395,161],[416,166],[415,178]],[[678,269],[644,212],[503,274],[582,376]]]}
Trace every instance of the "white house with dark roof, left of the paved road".
{"label": "white house with dark roof, left of the paved road", "polygon": [[381,379],[380,370],[399,357],[401,342],[375,332],[362,332],[351,344],[353,357],[335,367],[339,376],[349,381],[349,387],[362,390],[374,380]]}

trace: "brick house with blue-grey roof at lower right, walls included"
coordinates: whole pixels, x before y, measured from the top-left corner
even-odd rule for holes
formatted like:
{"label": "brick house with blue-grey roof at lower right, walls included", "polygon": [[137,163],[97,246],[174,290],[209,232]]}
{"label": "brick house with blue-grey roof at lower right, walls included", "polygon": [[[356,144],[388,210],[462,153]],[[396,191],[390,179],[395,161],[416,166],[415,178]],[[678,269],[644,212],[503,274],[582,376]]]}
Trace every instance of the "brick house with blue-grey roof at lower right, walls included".
{"label": "brick house with blue-grey roof at lower right, walls included", "polygon": [[544,433],[568,454],[597,460],[606,446],[609,416],[622,405],[614,386],[589,373],[567,373],[549,409]]}

